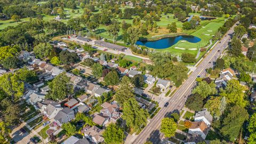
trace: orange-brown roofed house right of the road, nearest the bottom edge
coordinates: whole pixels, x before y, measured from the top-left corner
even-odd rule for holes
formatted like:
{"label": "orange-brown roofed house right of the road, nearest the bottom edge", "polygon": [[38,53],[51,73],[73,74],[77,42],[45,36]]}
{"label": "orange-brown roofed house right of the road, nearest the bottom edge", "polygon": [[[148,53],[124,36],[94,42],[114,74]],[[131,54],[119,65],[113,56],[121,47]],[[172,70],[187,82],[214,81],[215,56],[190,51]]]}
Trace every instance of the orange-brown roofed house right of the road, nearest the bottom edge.
{"label": "orange-brown roofed house right of the road, nearest the bottom edge", "polygon": [[209,129],[207,128],[207,125],[204,123],[204,121],[191,123],[192,125],[188,129],[188,133],[195,136],[201,136],[203,139],[205,139]]}

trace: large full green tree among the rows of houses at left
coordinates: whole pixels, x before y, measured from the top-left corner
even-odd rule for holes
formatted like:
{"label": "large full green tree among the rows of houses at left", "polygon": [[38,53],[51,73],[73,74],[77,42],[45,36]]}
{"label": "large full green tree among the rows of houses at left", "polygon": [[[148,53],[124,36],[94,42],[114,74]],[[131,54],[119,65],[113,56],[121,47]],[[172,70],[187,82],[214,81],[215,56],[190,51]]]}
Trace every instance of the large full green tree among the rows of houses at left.
{"label": "large full green tree among the rows of houses at left", "polygon": [[47,93],[46,98],[53,100],[62,100],[73,93],[73,85],[70,84],[70,77],[66,73],[56,76],[49,84],[49,87],[50,91]]}

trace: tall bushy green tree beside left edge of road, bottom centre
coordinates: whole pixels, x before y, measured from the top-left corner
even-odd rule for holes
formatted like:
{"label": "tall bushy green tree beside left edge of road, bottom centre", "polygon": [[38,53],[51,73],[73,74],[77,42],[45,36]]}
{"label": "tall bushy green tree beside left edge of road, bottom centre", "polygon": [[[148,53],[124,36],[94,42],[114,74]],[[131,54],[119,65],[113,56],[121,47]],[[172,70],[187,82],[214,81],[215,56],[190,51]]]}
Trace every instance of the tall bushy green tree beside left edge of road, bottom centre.
{"label": "tall bushy green tree beside left edge of road, bottom centre", "polygon": [[[127,96],[125,99],[127,99]],[[147,125],[148,112],[140,108],[137,100],[129,98],[124,102],[122,117],[127,126],[140,131]]]}

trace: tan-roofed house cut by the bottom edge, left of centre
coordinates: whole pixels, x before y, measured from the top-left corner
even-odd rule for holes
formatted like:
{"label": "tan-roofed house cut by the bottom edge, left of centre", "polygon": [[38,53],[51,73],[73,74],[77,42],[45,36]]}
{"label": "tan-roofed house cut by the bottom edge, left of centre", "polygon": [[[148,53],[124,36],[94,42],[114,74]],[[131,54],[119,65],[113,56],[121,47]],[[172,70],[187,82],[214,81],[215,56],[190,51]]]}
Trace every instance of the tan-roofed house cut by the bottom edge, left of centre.
{"label": "tan-roofed house cut by the bottom edge, left of centre", "polygon": [[99,129],[97,126],[85,126],[81,133],[84,133],[85,138],[90,139],[92,143],[100,143],[104,140],[102,137],[103,130]]}

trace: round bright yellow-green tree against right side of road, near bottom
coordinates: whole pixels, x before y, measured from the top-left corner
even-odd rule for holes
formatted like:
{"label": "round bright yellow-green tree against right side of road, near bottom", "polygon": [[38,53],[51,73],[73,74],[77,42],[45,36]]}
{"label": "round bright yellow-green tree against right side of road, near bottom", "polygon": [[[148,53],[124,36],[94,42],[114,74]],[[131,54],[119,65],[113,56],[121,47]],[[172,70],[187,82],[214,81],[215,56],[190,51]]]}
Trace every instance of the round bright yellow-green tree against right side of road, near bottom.
{"label": "round bright yellow-green tree against right side of road, near bottom", "polygon": [[162,119],[160,131],[164,133],[165,137],[171,138],[174,136],[176,129],[177,123],[174,122],[173,118],[165,117]]}

